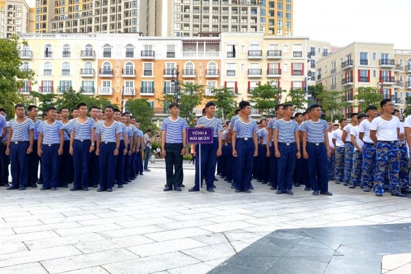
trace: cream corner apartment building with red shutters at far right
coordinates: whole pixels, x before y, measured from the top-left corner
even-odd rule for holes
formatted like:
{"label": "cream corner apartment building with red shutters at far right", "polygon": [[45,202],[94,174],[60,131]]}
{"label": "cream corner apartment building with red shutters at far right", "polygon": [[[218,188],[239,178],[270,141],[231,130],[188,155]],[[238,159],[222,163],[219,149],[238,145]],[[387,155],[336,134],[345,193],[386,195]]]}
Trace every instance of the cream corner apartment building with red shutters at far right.
{"label": "cream corner apartment building with red shutters at far right", "polygon": [[345,91],[343,100],[349,103],[342,113],[345,116],[360,111],[353,99],[359,87],[377,87],[384,98],[393,99],[396,107],[403,109],[405,102],[401,99],[407,95],[404,79],[408,79],[403,64],[411,55],[410,51],[396,51],[393,46],[353,42],[338,49],[316,63],[316,84],[323,84],[325,90]]}

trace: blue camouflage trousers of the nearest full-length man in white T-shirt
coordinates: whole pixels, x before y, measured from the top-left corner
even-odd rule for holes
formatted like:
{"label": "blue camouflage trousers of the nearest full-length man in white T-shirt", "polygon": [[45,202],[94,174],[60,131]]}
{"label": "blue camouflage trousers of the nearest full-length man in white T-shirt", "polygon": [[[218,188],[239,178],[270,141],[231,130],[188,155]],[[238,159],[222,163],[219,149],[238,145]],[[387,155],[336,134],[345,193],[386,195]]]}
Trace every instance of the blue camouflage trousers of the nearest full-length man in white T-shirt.
{"label": "blue camouflage trousers of the nearest full-length man in white T-shirt", "polygon": [[397,142],[378,141],[375,156],[375,184],[374,191],[378,194],[384,192],[384,175],[388,172],[390,192],[401,193],[399,181],[399,151]]}

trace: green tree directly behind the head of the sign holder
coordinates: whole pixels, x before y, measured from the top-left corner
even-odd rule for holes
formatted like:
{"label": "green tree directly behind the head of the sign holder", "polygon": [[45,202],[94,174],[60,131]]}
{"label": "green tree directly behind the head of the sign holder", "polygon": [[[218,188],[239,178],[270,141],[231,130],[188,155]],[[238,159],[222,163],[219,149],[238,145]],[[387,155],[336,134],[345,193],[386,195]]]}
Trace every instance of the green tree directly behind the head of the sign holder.
{"label": "green tree directly behind the head of the sign holder", "polygon": [[213,88],[212,96],[207,96],[216,103],[216,116],[222,121],[227,119],[227,115],[234,110],[234,92],[232,88]]}

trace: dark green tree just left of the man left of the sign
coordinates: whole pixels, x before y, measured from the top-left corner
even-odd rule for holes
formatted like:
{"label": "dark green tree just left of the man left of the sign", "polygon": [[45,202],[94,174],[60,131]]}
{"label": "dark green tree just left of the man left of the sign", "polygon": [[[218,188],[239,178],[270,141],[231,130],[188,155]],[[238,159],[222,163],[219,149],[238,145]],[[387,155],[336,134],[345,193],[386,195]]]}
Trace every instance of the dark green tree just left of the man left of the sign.
{"label": "dark green tree just left of the man left of the sign", "polygon": [[145,129],[153,126],[152,119],[154,110],[151,108],[147,99],[132,99],[125,102],[125,108],[133,114],[136,121],[140,122],[140,129],[145,132]]}

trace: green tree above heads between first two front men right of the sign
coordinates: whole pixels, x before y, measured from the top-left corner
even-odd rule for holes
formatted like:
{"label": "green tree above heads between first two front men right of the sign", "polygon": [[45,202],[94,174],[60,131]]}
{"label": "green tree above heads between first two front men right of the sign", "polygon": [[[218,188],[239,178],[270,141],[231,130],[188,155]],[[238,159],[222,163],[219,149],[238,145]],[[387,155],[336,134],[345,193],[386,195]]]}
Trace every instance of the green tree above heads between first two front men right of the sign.
{"label": "green tree above heads between first two front men right of the sign", "polygon": [[270,114],[270,110],[279,103],[282,90],[279,90],[273,82],[259,85],[251,91],[251,102],[255,103],[254,108],[260,110],[261,115]]}

